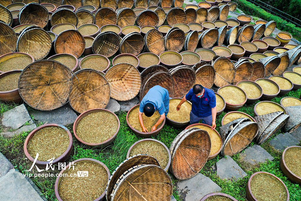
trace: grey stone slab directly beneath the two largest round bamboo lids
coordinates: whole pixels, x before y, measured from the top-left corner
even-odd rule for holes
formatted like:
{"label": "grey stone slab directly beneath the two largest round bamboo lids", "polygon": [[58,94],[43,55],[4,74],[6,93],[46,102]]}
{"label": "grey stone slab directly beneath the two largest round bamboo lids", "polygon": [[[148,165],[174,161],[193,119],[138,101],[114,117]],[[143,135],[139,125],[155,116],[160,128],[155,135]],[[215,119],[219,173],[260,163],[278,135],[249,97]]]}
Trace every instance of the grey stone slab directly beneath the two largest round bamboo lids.
{"label": "grey stone slab directly beneath the two largest round bamboo lids", "polygon": [[30,115],[39,123],[48,122],[64,126],[73,124],[77,118],[76,113],[68,104],[51,111],[34,110],[30,112]]}

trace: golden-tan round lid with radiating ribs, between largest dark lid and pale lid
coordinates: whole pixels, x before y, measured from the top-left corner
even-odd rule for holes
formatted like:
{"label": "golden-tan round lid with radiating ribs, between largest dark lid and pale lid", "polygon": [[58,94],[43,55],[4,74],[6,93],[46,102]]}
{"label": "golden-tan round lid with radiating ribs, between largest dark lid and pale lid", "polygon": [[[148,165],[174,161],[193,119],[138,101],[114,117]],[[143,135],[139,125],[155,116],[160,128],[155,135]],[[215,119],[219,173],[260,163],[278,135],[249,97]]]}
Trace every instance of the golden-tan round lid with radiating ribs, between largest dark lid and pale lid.
{"label": "golden-tan round lid with radiating ribs, between largest dark lid and pale lid", "polygon": [[82,113],[105,108],[109,100],[109,83],[98,71],[85,68],[75,73],[69,96],[69,103],[75,111]]}

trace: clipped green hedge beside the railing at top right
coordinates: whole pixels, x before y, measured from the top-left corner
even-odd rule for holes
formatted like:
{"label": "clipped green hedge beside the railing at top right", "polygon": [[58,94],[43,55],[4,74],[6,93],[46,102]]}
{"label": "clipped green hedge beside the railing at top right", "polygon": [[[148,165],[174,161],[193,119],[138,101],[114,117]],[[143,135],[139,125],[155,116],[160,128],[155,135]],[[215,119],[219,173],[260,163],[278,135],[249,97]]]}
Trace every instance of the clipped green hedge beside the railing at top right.
{"label": "clipped green hedge beside the railing at top right", "polygon": [[237,8],[244,11],[245,14],[260,17],[266,21],[274,20],[277,23],[278,29],[289,32],[295,39],[301,41],[301,28],[296,27],[294,24],[281,19],[281,17],[266,12],[262,8],[259,8],[246,0],[234,0],[234,2],[237,3]]}

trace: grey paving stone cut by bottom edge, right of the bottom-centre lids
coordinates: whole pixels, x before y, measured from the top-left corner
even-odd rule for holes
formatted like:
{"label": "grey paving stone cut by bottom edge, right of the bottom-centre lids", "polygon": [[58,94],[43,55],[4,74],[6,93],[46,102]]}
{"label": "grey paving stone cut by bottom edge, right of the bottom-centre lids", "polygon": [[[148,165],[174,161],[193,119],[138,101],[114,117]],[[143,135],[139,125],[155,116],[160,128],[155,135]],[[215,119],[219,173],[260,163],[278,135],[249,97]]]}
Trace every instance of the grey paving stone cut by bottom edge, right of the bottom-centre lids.
{"label": "grey paving stone cut by bottom edge, right of the bottom-centre lids", "polygon": [[177,190],[184,201],[200,201],[208,193],[219,192],[222,189],[209,177],[197,173],[190,179],[178,181]]}

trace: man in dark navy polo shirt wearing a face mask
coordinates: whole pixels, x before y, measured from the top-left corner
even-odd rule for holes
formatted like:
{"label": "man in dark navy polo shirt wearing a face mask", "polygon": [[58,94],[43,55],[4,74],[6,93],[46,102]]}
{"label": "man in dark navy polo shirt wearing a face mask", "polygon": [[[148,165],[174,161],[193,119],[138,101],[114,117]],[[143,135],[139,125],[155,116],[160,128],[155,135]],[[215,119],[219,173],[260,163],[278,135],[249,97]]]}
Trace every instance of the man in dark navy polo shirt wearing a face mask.
{"label": "man in dark navy polo shirt wearing a face mask", "polygon": [[202,123],[210,125],[211,129],[216,127],[216,96],[212,90],[200,84],[194,85],[177,106],[178,111],[185,101],[192,103],[190,124],[196,124],[202,119]]}

